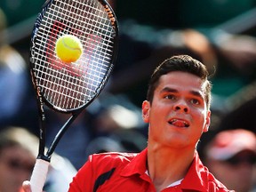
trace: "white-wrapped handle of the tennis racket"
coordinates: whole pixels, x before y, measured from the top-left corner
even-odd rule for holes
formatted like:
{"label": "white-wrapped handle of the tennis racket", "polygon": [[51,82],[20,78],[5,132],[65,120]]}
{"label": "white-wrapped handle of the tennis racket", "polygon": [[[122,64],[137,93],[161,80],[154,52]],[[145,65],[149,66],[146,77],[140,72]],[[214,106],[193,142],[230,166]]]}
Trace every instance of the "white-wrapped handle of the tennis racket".
{"label": "white-wrapped handle of the tennis racket", "polygon": [[31,175],[30,185],[32,192],[42,192],[46,180],[50,162],[43,159],[36,159],[36,164]]}

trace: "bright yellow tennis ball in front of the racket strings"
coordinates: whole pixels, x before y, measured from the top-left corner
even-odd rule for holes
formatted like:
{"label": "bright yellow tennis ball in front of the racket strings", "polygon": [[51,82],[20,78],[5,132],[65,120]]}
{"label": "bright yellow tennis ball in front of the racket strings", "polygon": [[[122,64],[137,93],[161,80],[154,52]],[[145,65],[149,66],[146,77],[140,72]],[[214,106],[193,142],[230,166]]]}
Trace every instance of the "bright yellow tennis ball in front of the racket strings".
{"label": "bright yellow tennis ball in front of the racket strings", "polygon": [[76,36],[60,36],[55,45],[55,52],[60,60],[70,63],[78,60],[83,52],[83,45]]}

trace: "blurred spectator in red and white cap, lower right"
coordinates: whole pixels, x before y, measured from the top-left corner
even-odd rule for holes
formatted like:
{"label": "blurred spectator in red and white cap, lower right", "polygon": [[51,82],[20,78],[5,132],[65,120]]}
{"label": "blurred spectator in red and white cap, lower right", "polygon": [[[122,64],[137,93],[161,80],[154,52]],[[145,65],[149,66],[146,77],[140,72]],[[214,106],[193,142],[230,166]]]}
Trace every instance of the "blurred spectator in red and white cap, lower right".
{"label": "blurred spectator in red and white cap, lower right", "polygon": [[219,132],[204,148],[204,164],[227,188],[237,192],[252,191],[255,163],[256,136],[244,129]]}

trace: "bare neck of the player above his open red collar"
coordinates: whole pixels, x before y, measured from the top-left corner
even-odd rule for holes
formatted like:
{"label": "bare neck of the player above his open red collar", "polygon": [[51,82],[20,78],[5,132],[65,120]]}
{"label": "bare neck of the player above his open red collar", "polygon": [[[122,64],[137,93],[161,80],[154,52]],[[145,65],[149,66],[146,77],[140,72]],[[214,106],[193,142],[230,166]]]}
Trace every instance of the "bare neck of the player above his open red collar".
{"label": "bare neck of the player above his open red collar", "polygon": [[148,146],[148,173],[156,191],[181,180],[195,156],[195,148],[163,148]]}

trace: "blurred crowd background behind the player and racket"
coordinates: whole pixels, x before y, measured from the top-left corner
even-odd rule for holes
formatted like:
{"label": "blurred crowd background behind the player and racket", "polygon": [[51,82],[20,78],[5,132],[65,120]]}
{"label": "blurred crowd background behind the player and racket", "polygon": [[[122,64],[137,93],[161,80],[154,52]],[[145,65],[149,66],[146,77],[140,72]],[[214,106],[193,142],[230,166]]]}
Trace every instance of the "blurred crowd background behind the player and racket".
{"label": "blurred crowd background behind the player and racket", "polygon": [[[5,180],[11,177],[19,188],[21,181],[29,179],[36,158],[35,148],[29,149],[24,141],[12,138],[13,145],[7,145],[11,133],[6,132],[18,132],[24,138],[30,134],[28,137],[34,140],[29,142],[30,147],[37,145],[38,135],[36,95],[28,73],[29,36],[21,41],[25,46],[10,43],[6,29],[14,21],[8,23],[7,13],[15,8],[10,2],[1,0],[0,4],[0,8],[3,6],[0,9],[0,191],[4,192],[19,191],[14,189],[16,184]],[[228,188],[255,192],[256,22],[253,25],[247,13],[255,20],[256,1],[154,2],[109,1],[120,19],[116,67],[99,98],[84,110],[60,140],[56,157],[52,158],[59,163],[52,165],[55,173],[49,178],[62,174],[70,180],[92,153],[140,152],[145,148],[148,131],[142,123],[140,105],[146,98],[149,76],[160,61],[186,53],[201,60],[212,74],[212,124],[210,132],[205,133],[199,143],[199,154]],[[38,10],[34,13],[29,10],[31,16],[40,11],[43,3],[37,2]],[[202,5],[200,10],[196,4]],[[132,11],[128,12],[128,7]],[[252,25],[245,28],[245,23]],[[49,108],[46,116],[49,144],[68,116],[56,114]],[[26,142],[28,144],[28,140]],[[23,159],[20,153],[12,152],[18,151],[17,148],[26,150],[29,156],[22,152]],[[62,169],[58,168],[60,162],[64,162],[67,169],[70,167],[68,176],[58,172]],[[51,182],[58,183],[49,179],[49,186]],[[4,187],[4,183],[10,183],[13,188]]]}

